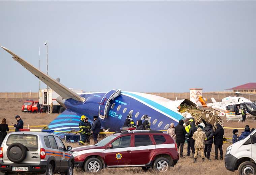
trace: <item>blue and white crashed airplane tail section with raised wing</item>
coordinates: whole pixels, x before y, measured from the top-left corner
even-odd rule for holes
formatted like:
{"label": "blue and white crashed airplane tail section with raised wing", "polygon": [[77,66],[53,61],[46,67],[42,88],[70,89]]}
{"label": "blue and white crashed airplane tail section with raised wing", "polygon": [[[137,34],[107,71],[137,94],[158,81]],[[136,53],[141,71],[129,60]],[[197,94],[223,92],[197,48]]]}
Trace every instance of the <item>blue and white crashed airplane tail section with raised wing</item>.
{"label": "blue and white crashed airplane tail section with raised wing", "polygon": [[102,129],[117,131],[123,126],[129,113],[132,113],[132,119],[135,121],[143,119],[143,115],[147,114],[150,116],[152,130],[166,130],[171,122],[177,125],[178,121],[184,118],[178,112],[181,104],[195,105],[190,100],[171,101],[155,95],[122,92],[116,89],[108,92],[76,94],[7,48],[2,48],[11,54],[15,61],[61,96],[57,98],[57,101],[66,107],[66,110],[49,124],[49,129],[55,131],[79,130],[78,123],[81,115],[86,115],[91,122],[93,116],[98,115]]}

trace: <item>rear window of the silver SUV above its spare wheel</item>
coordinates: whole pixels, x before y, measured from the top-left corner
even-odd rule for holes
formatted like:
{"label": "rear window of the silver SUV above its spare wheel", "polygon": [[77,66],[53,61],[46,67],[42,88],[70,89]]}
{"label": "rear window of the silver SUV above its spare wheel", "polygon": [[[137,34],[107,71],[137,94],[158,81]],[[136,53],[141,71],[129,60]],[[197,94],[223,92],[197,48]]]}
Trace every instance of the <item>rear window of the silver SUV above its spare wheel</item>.
{"label": "rear window of the silver SUV above its spare wheel", "polygon": [[21,143],[28,149],[28,151],[38,150],[38,139],[36,135],[11,134],[6,141],[6,145],[10,146],[12,143]]}

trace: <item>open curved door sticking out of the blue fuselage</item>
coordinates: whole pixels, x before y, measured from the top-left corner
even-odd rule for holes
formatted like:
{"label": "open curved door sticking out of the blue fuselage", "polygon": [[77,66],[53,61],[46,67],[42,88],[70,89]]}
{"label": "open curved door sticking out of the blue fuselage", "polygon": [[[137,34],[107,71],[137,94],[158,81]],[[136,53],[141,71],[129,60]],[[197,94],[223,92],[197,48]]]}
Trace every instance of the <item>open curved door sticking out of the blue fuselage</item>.
{"label": "open curved door sticking out of the blue fuselage", "polygon": [[109,101],[118,97],[121,94],[121,90],[113,89],[107,92],[101,99],[99,106],[99,117],[104,119],[107,116],[107,108],[109,106]]}

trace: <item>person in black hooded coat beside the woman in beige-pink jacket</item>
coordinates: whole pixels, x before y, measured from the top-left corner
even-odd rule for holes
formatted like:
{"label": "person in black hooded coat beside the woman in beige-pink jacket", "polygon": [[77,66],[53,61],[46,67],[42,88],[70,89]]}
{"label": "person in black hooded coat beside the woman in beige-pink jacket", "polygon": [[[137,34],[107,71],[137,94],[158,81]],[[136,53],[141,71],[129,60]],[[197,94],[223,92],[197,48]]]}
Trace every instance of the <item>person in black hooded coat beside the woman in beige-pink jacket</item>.
{"label": "person in black hooded coat beside the woman in beige-pink jacket", "polygon": [[180,149],[180,157],[183,156],[183,147],[184,147],[184,142],[185,142],[185,136],[187,134],[185,127],[183,126],[184,121],[180,120],[179,124],[175,127],[174,133],[176,134],[176,143],[179,151],[179,147],[181,146]]}

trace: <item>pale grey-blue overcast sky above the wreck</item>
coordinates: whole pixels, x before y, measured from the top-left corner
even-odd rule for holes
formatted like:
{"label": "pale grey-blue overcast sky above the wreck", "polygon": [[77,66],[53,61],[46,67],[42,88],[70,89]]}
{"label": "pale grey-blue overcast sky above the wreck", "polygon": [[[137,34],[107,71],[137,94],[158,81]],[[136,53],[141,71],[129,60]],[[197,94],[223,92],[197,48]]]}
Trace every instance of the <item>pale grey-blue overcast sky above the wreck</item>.
{"label": "pale grey-blue overcast sky above the wreck", "polygon": [[[0,1],[0,45],[69,88],[223,91],[256,82],[256,1]],[[0,92],[38,79],[0,49]],[[45,85],[43,85],[45,87]]]}

